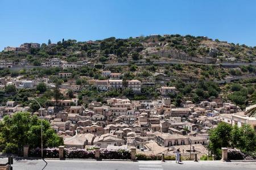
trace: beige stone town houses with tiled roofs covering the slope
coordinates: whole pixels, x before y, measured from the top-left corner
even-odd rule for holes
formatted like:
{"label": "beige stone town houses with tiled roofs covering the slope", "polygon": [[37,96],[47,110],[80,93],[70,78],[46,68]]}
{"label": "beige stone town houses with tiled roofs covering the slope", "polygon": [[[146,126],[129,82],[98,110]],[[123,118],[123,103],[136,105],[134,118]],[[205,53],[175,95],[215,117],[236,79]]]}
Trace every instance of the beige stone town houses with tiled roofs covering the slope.
{"label": "beige stone town houses with tiled roofs covering the slope", "polygon": [[[20,48],[7,47],[5,50],[28,50],[40,45],[35,43],[23,44]],[[25,61],[24,61],[25,62]],[[250,125],[256,131],[256,115],[248,116],[246,111],[256,108],[250,105],[241,109],[232,101],[224,101],[221,97],[202,100],[193,103],[183,99],[179,107],[172,103],[171,96],[179,95],[175,86],[156,86],[154,80],[122,79],[124,73],[115,73],[107,69],[98,70],[104,79],[85,78],[86,83],[77,83],[73,73],[68,70],[79,67],[95,67],[86,61],[67,63],[60,58],[51,58],[42,63],[46,68],[60,68],[57,75],[44,75],[43,78],[31,79],[24,75],[5,76],[0,79],[1,88],[14,86],[16,90],[35,90],[39,84],[46,88],[58,88],[65,96],[63,99],[48,99],[51,105],[31,112],[31,105],[23,106],[15,100],[6,101],[0,107],[0,117],[12,116],[16,112],[30,112],[49,121],[55,133],[63,138],[65,148],[100,147],[108,150],[137,148],[138,153],[158,155],[163,152],[172,155],[179,148],[184,154],[197,152],[200,156],[209,154],[209,131],[216,128],[220,122],[229,125]],[[1,67],[12,67],[11,63],[1,62]],[[62,80],[59,85],[56,79]],[[76,78],[77,79],[77,78]],[[146,88],[145,88],[146,87]],[[128,91],[130,94],[143,95],[148,93],[147,87],[159,93],[154,99],[129,99],[124,96],[105,97],[100,101],[87,100],[86,96],[79,99],[81,91],[119,92]],[[143,90],[144,89],[144,90]],[[145,91],[146,89],[146,91]],[[67,95],[67,92],[72,95]],[[42,94],[38,93],[27,100],[36,100]],[[54,96],[54,95],[53,95]],[[80,97],[81,98],[81,97]]]}

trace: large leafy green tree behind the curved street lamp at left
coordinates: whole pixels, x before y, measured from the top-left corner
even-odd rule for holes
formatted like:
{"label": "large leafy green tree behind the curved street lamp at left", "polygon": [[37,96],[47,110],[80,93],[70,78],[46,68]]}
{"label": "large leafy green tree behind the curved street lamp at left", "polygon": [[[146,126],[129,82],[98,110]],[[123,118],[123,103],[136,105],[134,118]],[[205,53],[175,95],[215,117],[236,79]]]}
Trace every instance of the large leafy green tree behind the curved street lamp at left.
{"label": "large leafy green tree behind the curved street lamp at left", "polygon": [[[30,113],[17,112],[13,117],[5,116],[0,122],[0,146],[5,152],[17,154],[18,148],[29,144],[31,148],[40,147],[41,120]],[[47,120],[43,120],[43,147],[63,145],[61,139]]]}

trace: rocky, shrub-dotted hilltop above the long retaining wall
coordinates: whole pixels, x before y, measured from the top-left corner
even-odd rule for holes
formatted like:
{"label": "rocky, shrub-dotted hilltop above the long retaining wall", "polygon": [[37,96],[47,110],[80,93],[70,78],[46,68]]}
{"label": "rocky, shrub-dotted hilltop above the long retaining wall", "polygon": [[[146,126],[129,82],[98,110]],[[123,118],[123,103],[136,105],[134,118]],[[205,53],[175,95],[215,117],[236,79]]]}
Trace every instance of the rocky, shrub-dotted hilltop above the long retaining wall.
{"label": "rocky, shrub-dotted hilltop above the long retaining wall", "polygon": [[[116,39],[77,42],[63,40],[57,44],[42,44],[40,49],[25,52],[1,52],[2,59],[27,58],[28,61],[44,62],[47,58],[60,57],[68,62],[87,60],[94,63],[116,63],[138,60],[181,59],[203,63],[253,62],[256,46],[233,44],[208,37],[180,35],[152,35]],[[39,64],[39,63],[37,63]]]}

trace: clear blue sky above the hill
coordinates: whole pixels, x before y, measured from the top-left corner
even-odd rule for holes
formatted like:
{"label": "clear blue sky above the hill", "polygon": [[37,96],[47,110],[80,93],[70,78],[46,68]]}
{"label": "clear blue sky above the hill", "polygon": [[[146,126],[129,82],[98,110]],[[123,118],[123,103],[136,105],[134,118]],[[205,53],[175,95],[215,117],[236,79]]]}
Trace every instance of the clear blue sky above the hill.
{"label": "clear blue sky above the hill", "polygon": [[256,46],[254,0],[0,0],[0,21],[0,50],[176,33]]}

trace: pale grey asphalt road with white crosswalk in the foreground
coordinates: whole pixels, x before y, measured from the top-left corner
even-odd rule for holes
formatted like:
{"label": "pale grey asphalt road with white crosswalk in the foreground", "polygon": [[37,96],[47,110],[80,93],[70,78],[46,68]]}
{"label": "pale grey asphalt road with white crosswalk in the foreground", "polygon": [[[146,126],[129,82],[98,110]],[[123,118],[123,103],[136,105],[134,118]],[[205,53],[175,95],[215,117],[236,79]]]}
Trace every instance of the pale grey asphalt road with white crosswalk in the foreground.
{"label": "pale grey asphalt road with white crosswalk in the foreground", "polygon": [[25,169],[43,169],[46,165],[46,170],[66,170],[66,169],[88,169],[88,170],[167,170],[167,169],[189,169],[189,170],[241,170],[241,169],[256,169],[256,162],[221,162],[221,161],[187,161],[182,164],[160,161],[96,161],[96,160],[46,160],[47,165],[43,160],[14,160],[14,170]]}

